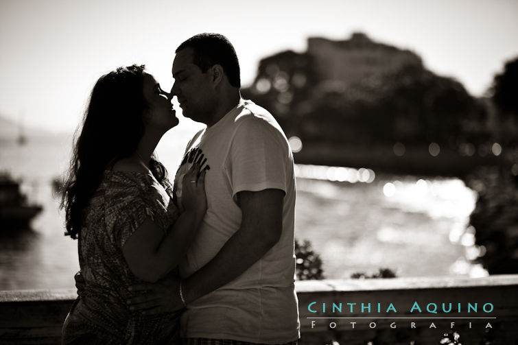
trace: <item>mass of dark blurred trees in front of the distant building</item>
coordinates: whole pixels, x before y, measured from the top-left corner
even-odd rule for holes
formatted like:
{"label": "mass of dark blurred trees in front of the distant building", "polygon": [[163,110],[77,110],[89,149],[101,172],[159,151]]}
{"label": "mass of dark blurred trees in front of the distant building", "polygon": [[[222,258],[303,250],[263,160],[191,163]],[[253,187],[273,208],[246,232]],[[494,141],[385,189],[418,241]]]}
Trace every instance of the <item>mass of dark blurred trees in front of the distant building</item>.
{"label": "mass of dark blurred trees in front of the distant building", "polygon": [[261,60],[255,83],[242,93],[305,144],[451,144],[465,139],[470,128],[485,128],[472,123],[486,121],[480,102],[456,80],[421,64],[373,70],[349,84],[326,80],[318,67],[322,62],[309,53],[278,53]]}

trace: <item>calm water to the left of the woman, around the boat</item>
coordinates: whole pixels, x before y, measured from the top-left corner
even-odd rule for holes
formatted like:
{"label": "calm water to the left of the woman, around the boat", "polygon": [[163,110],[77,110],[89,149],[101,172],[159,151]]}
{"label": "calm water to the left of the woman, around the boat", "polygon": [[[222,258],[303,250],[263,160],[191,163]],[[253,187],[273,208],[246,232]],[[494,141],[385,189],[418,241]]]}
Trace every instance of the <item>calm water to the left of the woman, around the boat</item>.
{"label": "calm water to the left of the woman, around the boat", "polygon": [[0,171],[22,178],[21,190],[43,206],[32,222],[34,230],[0,232],[0,289],[45,289],[73,286],[78,271],[75,243],[64,237],[59,200],[52,197],[51,181],[59,176],[69,156],[66,136],[29,141],[19,146],[2,142]]}

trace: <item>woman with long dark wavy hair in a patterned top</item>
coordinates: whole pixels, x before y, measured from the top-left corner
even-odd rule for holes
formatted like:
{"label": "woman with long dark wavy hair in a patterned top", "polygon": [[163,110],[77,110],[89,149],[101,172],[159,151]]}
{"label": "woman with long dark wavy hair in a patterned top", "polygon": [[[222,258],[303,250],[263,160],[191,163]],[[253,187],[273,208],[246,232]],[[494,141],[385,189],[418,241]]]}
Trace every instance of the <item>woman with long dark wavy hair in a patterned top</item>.
{"label": "woman with long dark wavy hair in a patterned top", "polygon": [[137,65],[103,75],[93,88],[62,200],[85,281],[63,344],[178,342],[179,312],[144,316],[126,305],[130,285],[176,274],[207,209],[201,152],[191,156],[181,205],[154,158],[178,124],[168,96]]}

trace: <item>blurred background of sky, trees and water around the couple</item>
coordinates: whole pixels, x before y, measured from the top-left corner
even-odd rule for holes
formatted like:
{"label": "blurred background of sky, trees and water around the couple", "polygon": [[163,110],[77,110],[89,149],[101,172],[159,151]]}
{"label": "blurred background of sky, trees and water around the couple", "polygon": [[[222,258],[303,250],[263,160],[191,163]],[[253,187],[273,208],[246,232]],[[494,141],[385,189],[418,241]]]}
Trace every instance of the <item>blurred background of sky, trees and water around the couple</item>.
{"label": "blurred background of sky, trees and water around the couple", "polygon": [[[0,0],[0,290],[73,287],[60,181],[100,75],[226,35],[296,160],[299,277],[518,272],[514,0]],[[180,110],[181,111],[181,110]],[[174,174],[201,128],[158,144]]]}

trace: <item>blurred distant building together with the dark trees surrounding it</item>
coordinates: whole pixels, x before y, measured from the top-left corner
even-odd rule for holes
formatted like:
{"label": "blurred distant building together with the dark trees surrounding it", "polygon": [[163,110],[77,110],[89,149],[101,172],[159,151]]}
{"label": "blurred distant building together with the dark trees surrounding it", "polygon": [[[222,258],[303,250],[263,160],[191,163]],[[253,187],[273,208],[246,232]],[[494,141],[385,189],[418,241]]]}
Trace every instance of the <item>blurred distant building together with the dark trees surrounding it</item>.
{"label": "blurred distant building together with the dark trees surrounding it", "polygon": [[242,93],[271,110],[305,152],[311,143],[451,146],[485,125],[462,84],[428,71],[413,51],[362,33],[311,37],[304,52],[263,58]]}

